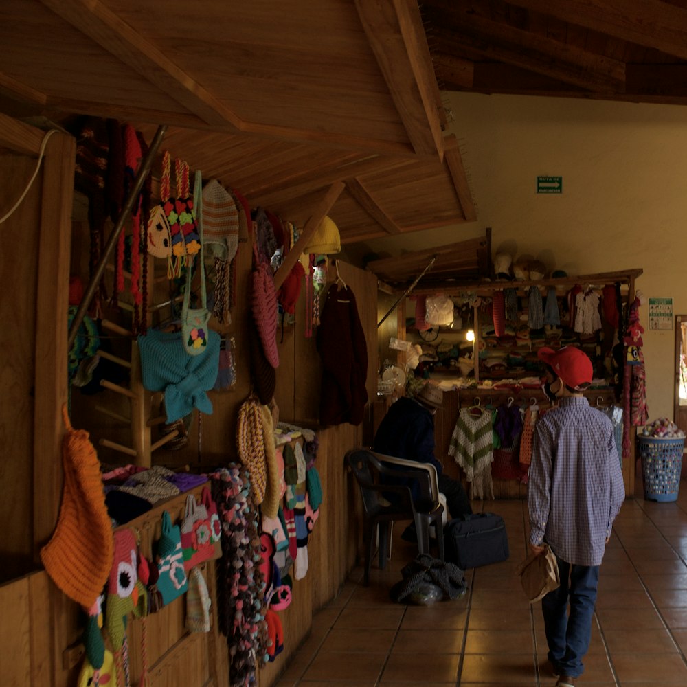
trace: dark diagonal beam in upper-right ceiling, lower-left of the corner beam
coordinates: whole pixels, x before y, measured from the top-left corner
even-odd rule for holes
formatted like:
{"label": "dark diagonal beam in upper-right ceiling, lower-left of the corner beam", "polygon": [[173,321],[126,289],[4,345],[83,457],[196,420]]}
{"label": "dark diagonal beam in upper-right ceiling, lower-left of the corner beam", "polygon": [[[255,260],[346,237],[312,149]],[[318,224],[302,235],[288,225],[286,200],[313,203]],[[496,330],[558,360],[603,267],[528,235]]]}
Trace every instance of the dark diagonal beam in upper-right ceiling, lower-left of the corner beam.
{"label": "dark diagonal beam in upper-right ceiling, lower-left of the corner beam", "polygon": [[441,13],[433,23],[438,49],[446,54],[451,54],[452,45],[465,45],[487,60],[517,65],[592,92],[624,91],[625,65],[618,60],[468,14],[458,23]]}

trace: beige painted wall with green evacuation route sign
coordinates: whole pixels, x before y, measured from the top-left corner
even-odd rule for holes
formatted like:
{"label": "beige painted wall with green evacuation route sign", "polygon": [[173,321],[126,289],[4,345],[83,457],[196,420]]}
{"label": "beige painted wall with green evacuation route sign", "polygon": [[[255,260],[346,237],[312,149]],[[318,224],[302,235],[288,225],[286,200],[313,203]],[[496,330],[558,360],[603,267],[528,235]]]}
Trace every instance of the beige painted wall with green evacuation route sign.
{"label": "beige painted wall with green evacuation route sign", "polygon": [[[494,252],[530,254],[570,275],[640,267],[644,295],[671,296],[675,313],[687,313],[687,108],[469,93],[446,99],[478,221],[404,237],[404,249],[492,227]],[[563,177],[563,193],[537,194],[543,175]],[[370,250],[394,254],[388,240]],[[674,332],[649,331],[648,318],[644,306],[649,418],[672,418]]]}

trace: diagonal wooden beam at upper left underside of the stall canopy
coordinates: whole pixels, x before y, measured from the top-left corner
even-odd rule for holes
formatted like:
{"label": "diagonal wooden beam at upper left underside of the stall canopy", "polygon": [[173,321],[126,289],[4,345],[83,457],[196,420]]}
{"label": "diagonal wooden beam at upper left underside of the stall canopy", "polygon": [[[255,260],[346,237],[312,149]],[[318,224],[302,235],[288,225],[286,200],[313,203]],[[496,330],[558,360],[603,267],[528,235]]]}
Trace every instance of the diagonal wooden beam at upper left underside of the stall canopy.
{"label": "diagonal wooden beam at upper left underside of the stall canopy", "polygon": [[[41,0],[76,30],[89,36],[185,109],[207,124],[239,131],[242,122],[196,80],[182,71],[166,54],[148,43],[131,25],[98,0]],[[139,115],[140,116],[140,115]],[[172,117],[168,117],[170,120]],[[167,123],[168,120],[165,120]]]}

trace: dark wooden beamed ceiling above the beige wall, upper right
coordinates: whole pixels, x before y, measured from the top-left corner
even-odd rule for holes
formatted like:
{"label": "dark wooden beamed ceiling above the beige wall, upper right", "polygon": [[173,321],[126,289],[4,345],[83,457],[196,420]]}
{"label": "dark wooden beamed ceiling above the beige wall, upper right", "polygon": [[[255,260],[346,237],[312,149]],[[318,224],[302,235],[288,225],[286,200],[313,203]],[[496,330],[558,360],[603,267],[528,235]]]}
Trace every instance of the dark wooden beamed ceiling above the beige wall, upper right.
{"label": "dark wooden beamed ceiling above the beige wall, upper right", "polygon": [[441,87],[687,104],[686,0],[423,0]]}

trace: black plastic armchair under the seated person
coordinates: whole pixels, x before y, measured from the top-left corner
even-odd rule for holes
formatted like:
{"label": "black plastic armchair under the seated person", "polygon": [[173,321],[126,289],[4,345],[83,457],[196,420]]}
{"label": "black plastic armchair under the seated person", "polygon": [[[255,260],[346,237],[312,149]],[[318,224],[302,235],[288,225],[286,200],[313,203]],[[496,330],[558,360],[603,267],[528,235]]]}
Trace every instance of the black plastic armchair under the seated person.
{"label": "black plastic armchair under the seated person", "polygon": [[[374,453],[368,449],[351,449],[343,459],[352,471],[363,501],[365,536],[365,578],[370,581],[370,567],[374,558],[375,532],[379,528],[379,567],[386,565],[392,523],[396,520],[412,520],[418,535],[418,551],[429,554],[429,528],[434,525],[438,535],[442,532],[444,506],[439,501],[436,484],[436,469],[433,465],[401,460],[392,456]],[[416,480],[419,496],[413,498],[408,486],[387,484],[390,482]],[[444,560],[444,538],[436,537],[439,557]]]}

